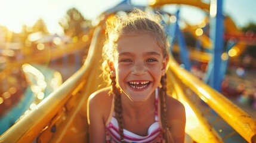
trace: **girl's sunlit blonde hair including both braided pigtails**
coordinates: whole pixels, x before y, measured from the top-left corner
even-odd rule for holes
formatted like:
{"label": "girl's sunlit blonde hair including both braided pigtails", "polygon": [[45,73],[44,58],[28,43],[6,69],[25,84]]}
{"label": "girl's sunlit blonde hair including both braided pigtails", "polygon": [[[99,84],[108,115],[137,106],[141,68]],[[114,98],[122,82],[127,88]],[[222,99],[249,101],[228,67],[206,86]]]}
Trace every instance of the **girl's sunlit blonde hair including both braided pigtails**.
{"label": "girl's sunlit blonde hair including both braided pigtails", "polygon": [[[153,35],[156,43],[162,49],[163,57],[167,57],[167,49],[169,43],[164,32],[164,27],[161,25],[161,15],[144,12],[138,9],[131,11],[125,15],[114,15],[106,21],[106,41],[103,47],[103,73],[105,79],[112,85],[112,94],[115,95],[115,117],[118,120],[119,134],[121,141],[124,141],[124,121],[122,117],[121,92],[116,84],[115,77],[111,76],[110,69],[107,66],[107,61],[114,61],[117,52],[116,42],[122,35],[149,33]],[[161,78],[161,122],[165,129],[169,129],[167,119],[167,102],[166,102],[166,75]]]}

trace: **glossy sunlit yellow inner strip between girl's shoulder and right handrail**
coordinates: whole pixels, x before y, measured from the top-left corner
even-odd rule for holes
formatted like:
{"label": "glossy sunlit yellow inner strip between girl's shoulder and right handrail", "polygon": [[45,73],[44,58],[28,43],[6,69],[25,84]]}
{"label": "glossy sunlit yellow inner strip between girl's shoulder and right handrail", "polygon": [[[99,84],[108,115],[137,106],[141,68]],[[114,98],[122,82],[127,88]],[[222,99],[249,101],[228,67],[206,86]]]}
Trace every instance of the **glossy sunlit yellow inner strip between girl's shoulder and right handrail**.
{"label": "glossy sunlit yellow inner strip between girl's shoulder and right handrail", "polygon": [[[171,68],[167,71],[168,81],[173,84],[175,97],[183,103],[186,108],[186,133],[196,142],[221,143],[223,139],[218,135],[217,131],[209,125],[205,117],[202,116],[199,108],[184,93],[183,83],[180,82]],[[168,89],[172,89],[169,88]]]}

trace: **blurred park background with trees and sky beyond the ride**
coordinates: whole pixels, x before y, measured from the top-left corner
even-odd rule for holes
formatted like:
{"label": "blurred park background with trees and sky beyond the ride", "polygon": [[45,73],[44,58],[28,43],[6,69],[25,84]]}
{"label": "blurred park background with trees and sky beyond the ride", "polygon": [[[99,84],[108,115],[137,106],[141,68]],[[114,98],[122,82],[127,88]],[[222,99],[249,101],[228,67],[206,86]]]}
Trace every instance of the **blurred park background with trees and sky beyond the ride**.
{"label": "blurred park background with trees and sky beyond the ride", "polygon": [[[0,134],[79,70],[87,58],[92,27],[100,23],[102,14],[110,13],[121,2],[0,0]],[[147,7],[150,3],[146,0],[129,2],[138,7]],[[226,52],[221,55],[222,59],[228,60],[218,89],[254,117],[255,6],[254,0],[223,0],[223,15],[229,17],[224,24],[224,45],[228,47],[230,39],[236,44],[224,49]],[[209,24],[209,13],[200,5],[170,4],[163,9],[169,15],[179,11],[179,26],[189,49],[209,46],[210,40],[201,36],[202,32],[208,32],[205,29]],[[175,20],[169,16],[170,22]],[[174,47],[173,51],[181,63],[178,49]],[[190,72],[205,80],[208,56],[191,56]],[[198,56],[200,58],[196,58]]]}

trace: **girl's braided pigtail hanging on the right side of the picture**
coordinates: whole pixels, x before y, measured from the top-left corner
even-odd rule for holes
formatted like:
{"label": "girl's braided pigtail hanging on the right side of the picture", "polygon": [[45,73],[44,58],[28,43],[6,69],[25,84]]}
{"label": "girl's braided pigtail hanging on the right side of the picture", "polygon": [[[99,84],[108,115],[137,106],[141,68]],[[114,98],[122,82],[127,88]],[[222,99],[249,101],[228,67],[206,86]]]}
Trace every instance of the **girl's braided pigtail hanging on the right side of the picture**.
{"label": "girl's braided pigtail hanging on the right side of the picture", "polygon": [[164,129],[164,139],[165,142],[173,143],[172,135],[169,129],[169,123],[168,123],[168,107],[167,107],[167,83],[166,83],[166,74],[162,76],[161,78],[161,91],[160,91],[160,98],[161,98],[161,122],[162,122],[162,128]]}

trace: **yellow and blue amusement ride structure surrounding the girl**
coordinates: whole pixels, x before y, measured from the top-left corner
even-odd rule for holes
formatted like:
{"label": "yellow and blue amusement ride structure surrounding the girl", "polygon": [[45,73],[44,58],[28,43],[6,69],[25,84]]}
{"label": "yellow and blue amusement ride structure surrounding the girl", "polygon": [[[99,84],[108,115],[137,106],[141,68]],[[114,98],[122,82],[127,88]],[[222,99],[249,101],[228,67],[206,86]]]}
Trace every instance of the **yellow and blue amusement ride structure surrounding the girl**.
{"label": "yellow and blue amusement ride structure surrounding the girl", "polygon": [[[204,24],[200,24],[201,27],[187,25],[185,29],[180,29],[179,10],[174,14],[174,23],[165,21],[166,33],[172,38],[170,52],[177,52],[175,48],[178,45],[180,52],[177,53],[181,60],[177,63],[175,58],[171,57],[167,76],[174,84],[168,90],[172,88],[174,91],[168,92],[186,107],[186,134],[194,142],[256,142],[256,119],[219,92],[229,61],[229,57],[221,57],[230,49],[236,51],[236,56],[245,49],[242,42],[234,41],[233,38],[224,41],[223,35],[238,35],[240,31],[229,17],[223,15],[222,1],[212,0],[211,4],[206,4],[200,0],[155,0],[151,1],[147,8],[171,16],[172,14],[162,10],[162,6],[172,4],[191,5],[201,8],[209,15],[203,21]],[[100,22],[91,29],[93,34],[88,33],[90,48],[83,66],[40,102],[35,110],[30,111],[4,132],[0,136],[0,142],[88,142],[87,99],[92,92],[106,86],[100,77],[104,20],[118,11],[129,11],[134,7],[135,5],[129,4],[128,1],[123,1],[100,15]],[[206,32],[195,35],[196,30],[205,30],[206,27],[209,27],[209,35]],[[185,30],[195,36],[196,43],[201,44],[189,50],[184,40]],[[227,42],[226,48],[223,47],[224,42]],[[73,46],[79,49],[84,45],[84,42],[78,42]],[[71,50],[70,47],[66,54]],[[60,57],[65,54],[62,49],[61,51],[51,55]],[[36,60],[43,61],[44,58],[41,57]],[[20,61],[14,66],[35,62],[34,60]],[[204,81],[189,72],[191,60],[208,63]]]}

